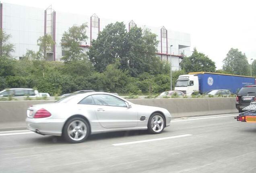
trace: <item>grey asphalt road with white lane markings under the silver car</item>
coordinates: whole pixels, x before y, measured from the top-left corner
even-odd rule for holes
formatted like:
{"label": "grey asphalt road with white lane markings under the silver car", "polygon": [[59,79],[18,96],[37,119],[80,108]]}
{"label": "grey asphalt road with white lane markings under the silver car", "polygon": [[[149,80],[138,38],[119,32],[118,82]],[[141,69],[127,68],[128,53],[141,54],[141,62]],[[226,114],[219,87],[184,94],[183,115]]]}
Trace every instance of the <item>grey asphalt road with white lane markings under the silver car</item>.
{"label": "grey asphalt road with white lane markings under the silver car", "polygon": [[255,173],[256,124],[234,116],[175,119],[159,135],[105,133],[79,144],[0,132],[0,173]]}

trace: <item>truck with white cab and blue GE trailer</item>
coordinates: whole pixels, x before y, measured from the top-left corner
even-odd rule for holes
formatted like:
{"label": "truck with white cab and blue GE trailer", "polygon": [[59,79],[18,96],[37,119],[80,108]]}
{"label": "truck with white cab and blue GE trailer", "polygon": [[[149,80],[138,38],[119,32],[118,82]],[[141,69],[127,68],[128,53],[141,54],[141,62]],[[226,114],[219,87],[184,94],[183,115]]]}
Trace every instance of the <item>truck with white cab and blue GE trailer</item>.
{"label": "truck with white cab and blue GE trailer", "polygon": [[228,89],[237,93],[246,85],[255,84],[255,78],[233,74],[221,74],[212,72],[190,72],[180,75],[176,81],[175,90],[182,91],[187,95],[198,91],[203,94],[210,90]]}

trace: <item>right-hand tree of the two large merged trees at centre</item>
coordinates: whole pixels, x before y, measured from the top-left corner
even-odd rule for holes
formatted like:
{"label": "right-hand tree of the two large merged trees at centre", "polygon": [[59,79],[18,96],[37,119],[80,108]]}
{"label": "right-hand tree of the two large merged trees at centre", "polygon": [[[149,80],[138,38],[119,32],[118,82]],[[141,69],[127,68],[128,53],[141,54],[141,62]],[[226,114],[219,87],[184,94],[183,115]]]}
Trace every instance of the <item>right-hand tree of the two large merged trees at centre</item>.
{"label": "right-hand tree of the two large merged trees at centre", "polygon": [[164,64],[155,54],[158,43],[157,35],[149,29],[132,28],[124,38],[124,52],[126,53],[121,59],[121,68],[129,70],[132,76],[137,76],[142,72],[161,73]]}

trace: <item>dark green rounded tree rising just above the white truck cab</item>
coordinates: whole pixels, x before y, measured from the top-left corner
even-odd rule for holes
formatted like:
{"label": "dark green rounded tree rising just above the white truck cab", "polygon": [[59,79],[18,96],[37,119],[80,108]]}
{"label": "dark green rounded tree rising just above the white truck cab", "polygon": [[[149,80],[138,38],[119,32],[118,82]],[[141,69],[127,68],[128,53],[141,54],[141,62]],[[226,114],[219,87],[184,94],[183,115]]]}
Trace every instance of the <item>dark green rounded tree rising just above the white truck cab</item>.
{"label": "dark green rounded tree rising just above the white truck cab", "polygon": [[187,73],[200,71],[215,72],[216,70],[215,62],[205,54],[197,52],[196,48],[194,48],[194,52],[191,56],[184,57],[180,66],[182,70]]}

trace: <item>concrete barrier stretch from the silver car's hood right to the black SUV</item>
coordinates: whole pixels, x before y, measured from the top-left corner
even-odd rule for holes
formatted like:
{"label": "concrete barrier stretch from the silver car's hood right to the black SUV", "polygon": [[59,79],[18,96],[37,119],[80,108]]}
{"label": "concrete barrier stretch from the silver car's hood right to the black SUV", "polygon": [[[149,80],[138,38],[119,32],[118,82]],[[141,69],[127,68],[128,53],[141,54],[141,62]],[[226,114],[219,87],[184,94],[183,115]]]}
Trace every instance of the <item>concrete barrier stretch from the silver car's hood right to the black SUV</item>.
{"label": "concrete barrier stretch from the silver car's hood right to the black SUV", "polygon": [[192,117],[238,112],[235,98],[129,99],[132,103],[167,109],[175,117]]}

